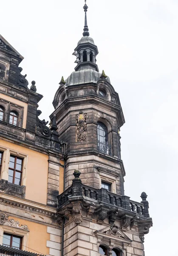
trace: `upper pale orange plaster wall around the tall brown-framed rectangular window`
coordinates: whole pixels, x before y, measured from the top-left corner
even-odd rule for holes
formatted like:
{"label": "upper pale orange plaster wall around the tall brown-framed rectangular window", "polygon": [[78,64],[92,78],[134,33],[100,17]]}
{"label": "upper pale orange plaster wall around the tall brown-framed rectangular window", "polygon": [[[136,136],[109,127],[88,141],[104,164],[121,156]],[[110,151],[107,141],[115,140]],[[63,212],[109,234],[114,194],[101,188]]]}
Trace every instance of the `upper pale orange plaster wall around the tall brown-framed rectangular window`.
{"label": "upper pale orange plaster wall around the tall brown-framed rectangular window", "polygon": [[28,155],[25,199],[46,204],[48,155],[0,139],[0,146]]}

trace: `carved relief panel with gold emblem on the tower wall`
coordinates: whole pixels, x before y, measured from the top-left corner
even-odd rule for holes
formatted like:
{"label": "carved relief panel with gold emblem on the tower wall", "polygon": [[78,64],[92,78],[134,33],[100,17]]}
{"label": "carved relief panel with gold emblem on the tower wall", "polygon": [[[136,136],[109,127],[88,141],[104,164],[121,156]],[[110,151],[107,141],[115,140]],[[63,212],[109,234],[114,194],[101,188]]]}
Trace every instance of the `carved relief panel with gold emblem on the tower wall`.
{"label": "carved relief panel with gold emblem on the tower wall", "polygon": [[80,111],[76,115],[76,141],[87,140],[87,114]]}

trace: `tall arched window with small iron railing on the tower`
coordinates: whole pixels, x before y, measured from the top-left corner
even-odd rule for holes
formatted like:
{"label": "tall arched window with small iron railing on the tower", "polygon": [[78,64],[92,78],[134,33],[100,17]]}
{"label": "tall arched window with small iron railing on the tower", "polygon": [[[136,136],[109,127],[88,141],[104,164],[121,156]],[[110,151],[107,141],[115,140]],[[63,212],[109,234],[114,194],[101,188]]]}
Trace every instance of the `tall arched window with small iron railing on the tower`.
{"label": "tall arched window with small iron railing on the tower", "polygon": [[107,127],[102,122],[98,122],[98,151],[108,154]]}

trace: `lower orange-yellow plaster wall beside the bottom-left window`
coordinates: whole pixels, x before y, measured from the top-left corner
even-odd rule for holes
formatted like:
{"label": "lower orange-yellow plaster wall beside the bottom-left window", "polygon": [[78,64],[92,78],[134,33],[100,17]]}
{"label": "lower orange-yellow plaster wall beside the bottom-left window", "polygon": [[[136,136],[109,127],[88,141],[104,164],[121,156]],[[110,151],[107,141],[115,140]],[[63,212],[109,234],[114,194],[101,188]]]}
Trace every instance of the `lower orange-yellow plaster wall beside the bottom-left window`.
{"label": "lower orange-yellow plaster wall beside the bottom-left window", "polygon": [[20,218],[14,218],[13,216],[10,216],[8,219],[11,218],[13,218],[14,221],[19,221],[19,226],[27,225],[29,230],[27,250],[29,252],[49,255],[49,248],[46,247],[46,241],[50,240],[50,234],[47,233],[47,226]]}

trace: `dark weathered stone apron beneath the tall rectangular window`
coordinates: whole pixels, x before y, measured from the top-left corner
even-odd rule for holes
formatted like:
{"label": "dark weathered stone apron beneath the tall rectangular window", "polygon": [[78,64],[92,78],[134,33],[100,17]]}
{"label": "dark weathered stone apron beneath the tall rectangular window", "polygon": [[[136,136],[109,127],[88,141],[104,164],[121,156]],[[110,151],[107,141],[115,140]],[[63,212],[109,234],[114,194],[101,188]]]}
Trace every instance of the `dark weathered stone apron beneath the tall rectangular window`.
{"label": "dark weathered stone apron beneath the tall rectangular window", "polygon": [[8,180],[0,180],[0,192],[14,195],[20,198],[25,198],[26,186],[19,186],[13,183],[8,182]]}

